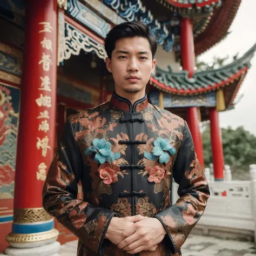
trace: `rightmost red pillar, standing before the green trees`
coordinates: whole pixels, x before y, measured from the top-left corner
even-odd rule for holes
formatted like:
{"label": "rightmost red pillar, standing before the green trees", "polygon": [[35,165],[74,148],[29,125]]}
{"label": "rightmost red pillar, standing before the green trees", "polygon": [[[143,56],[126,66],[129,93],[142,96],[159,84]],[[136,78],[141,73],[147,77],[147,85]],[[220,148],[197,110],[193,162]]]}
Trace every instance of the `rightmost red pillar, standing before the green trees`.
{"label": "rightmost red pillar, standing before the green trees", "polygon": [[210,122],[214,179],[221,181],[224,180],[224,156],[219,127],[219,112],[215,107],[210,110]]}

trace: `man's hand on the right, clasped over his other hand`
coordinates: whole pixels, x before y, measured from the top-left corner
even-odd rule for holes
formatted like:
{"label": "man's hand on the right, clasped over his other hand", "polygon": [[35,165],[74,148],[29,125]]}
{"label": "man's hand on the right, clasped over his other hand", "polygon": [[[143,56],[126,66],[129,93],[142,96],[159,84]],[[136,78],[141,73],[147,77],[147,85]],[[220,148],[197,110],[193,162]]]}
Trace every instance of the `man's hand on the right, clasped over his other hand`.
{"label": "man's hand on the right, clasped over his other hand", "polygon": [[143,217],[127,228],[123,235],[126,238],[118,244],[118,247],[127,253],[135,254],[149,251],[149,248],[156,250],[157,245],[164,239],[166,231],[158,219]]}

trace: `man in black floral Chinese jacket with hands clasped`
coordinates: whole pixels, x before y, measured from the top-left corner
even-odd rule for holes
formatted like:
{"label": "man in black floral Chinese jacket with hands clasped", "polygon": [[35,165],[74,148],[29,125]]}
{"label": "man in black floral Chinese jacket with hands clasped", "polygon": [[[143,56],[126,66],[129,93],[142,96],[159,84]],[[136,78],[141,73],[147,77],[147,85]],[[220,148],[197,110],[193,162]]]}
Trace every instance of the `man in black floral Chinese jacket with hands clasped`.
{"label": "man in black floral Chinese jacket with hands clasped", "polygon": [[[157,44],[145,24],[115,26],[105,49],[116,91],[68,120],[43,206],[77,235],[78,256],[181,255],[210,196],[190,130],[147,101]],[[171,206],[173,178],[180,199]]]}

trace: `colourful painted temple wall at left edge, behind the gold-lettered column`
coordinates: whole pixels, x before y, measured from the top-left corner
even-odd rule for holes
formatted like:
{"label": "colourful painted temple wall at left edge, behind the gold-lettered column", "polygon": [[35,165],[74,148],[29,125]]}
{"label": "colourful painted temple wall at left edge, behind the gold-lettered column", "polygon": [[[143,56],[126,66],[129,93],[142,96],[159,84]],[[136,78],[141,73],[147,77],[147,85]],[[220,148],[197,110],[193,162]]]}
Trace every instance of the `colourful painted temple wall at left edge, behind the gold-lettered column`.
{"label": "colourful painted temple wall at left edge, behind the gold-lettered column", "polygon": [[22,52],[0,42],[0,252],[13,219],[21,64]]}

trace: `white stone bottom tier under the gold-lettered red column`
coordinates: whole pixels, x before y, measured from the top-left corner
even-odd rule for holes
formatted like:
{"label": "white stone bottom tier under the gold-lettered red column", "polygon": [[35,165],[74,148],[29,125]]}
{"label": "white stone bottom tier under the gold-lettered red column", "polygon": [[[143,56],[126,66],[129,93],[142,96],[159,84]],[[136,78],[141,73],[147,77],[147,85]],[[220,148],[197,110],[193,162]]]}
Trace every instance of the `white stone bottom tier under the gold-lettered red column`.
{"label": "white stone bottom tier under the gold-lettered red column", "polygon": [[9,256],[59,256],[59,249],[60,243],[55,241],[51,244],[34,248],[15,248],[10,246],[6,248],[5,254]]}

